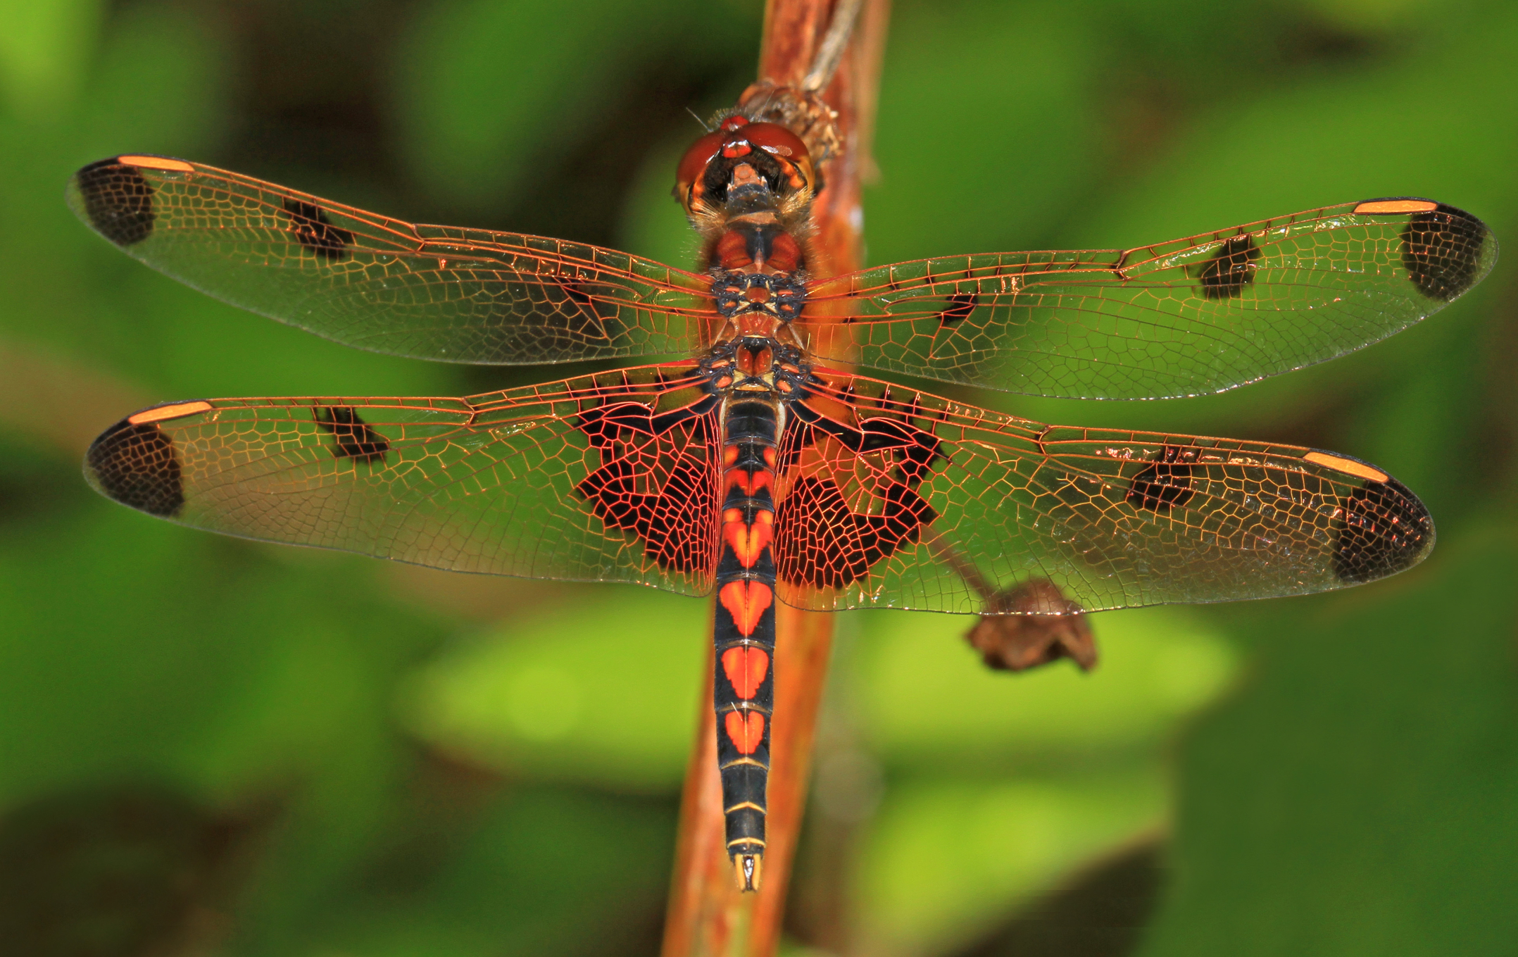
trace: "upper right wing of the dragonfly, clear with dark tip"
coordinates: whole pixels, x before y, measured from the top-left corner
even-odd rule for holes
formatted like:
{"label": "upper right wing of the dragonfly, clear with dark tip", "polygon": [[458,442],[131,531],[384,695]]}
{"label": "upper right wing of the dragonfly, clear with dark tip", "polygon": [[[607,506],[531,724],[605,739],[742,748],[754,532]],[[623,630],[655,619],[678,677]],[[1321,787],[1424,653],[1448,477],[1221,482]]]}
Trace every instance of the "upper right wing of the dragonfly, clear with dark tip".
{"label": "upper right wing of the dragonfly, clear with dark tip", "polygon": [[[1474,216],[1377,199],[1143,246],[918,260],[815,284],[818,354],[1066,398],[1222,392],[1378,342],[1497,261]],[[827,345],[838,343],[836,346]]]}

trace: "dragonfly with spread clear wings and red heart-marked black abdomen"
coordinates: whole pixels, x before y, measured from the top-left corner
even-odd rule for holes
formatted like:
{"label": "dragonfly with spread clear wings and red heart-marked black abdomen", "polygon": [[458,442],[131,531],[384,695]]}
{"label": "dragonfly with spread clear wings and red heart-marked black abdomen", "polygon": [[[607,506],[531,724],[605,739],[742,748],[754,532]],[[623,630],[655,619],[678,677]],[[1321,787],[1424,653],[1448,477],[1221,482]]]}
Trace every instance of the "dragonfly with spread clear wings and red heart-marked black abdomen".
{"label": "dragonfly with spread clear wings and red heart-marked black abdomen", "polygon": [[715,592],[727,852],[761,886],[776,603],[1006,614],[1359,585],[1416,565],[1427,509],[1346,454],[1032,422],[855,368],[1043,396],[1234,389],[1359,349],[1492,267],[1477,217],[1350,202],[1134,249],[952,255],[827,276],[823,156],[720,115],[676,197],[682,270],[557,238],[416,225],[156,155],[80,169],[96,232],[202,292],[363,349],[455,363],[650,358],[465,398],[172,401],[85,472],[252,539],[466,573]]}

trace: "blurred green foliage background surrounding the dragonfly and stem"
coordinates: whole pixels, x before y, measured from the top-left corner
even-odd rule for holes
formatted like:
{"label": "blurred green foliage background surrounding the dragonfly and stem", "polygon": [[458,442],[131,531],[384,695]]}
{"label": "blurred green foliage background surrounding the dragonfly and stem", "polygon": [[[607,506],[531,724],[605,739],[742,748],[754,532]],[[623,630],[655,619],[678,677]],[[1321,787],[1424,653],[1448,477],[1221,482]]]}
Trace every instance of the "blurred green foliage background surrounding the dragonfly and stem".
{"label": "blurred green foliage background surrounding the dragonfly and stem", "polygon": [[[686,264],[676,158],[759,0],[0,2],[0,952],[653,954],[701,602],[190,532],[90,492],[137,407],[584,371],[372,355],[68,214],[156,152],[422,222]],[[900,0],[871,263],[1131,246],[1424,194],[1518,238],[1518,8]],[[956,398],[1377,462],[1439,545],[1313,599],[1094,618],[990,673],[970,620],[839,615],[792,954],[1518,952],[1518,287],[1207,400]],[[940,389],[943,390],[943,389]]]}

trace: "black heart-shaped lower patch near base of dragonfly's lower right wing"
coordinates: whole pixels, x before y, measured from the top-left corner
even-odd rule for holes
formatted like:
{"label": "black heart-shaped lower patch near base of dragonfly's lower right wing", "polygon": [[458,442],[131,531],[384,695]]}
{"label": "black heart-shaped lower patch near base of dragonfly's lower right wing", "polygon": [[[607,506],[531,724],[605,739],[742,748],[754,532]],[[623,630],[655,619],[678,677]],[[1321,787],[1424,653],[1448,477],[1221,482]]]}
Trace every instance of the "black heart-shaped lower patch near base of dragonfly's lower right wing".
{"label": "black heart-shaped lower patch near base of dragonfly's lower right wing", "polygon": [[921,495],[891,483],[877,512],[849,510],[838,483],[806,475],[780,501],[774,561],[786,582],[841,588],[870,574],[880,559],[915,545],[923,526],[938,518]]}

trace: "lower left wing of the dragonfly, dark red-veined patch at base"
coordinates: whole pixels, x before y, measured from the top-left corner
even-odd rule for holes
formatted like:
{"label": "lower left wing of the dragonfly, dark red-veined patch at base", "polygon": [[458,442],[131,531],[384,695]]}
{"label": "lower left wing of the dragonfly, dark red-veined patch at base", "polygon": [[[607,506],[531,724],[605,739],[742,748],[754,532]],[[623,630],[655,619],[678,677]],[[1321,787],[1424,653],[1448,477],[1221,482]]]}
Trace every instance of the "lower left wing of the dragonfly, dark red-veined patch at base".
{"label": "lower left wing of the dragonfly, dark red-veined patch at base", "polygon": [[715,400],[691,366],[457,398],[173,403],[85,474],[181,524],[534,579],[710,588]]}

